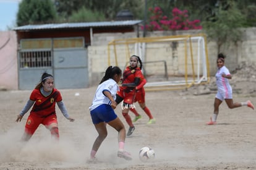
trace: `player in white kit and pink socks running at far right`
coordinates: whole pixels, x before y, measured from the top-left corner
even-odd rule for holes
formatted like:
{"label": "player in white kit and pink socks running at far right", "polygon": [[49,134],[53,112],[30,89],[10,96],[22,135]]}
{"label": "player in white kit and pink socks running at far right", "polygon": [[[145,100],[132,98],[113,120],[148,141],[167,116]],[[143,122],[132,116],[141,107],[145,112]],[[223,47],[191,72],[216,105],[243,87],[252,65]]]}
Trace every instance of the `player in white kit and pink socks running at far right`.
{"label": "player in white kit and pink socks running at far right", "polygon": [[232,88],[231,85],[229,85],[228,80],[232,79],[232,75],[227,67],[224,66],[224,55],[222,53],[218,54],[217,66],[218,71],[216,72],[215,77],[218,92],[215,96],[213,116],[210,117],[210,122],[207,122],[208,125],[216,124],[219,106],[223,100],[226,101],[229,109],[239,108],[241,106],[248,106],[249,108],[254,109],[254,105],[249,100],[242,103],[233,103]]}

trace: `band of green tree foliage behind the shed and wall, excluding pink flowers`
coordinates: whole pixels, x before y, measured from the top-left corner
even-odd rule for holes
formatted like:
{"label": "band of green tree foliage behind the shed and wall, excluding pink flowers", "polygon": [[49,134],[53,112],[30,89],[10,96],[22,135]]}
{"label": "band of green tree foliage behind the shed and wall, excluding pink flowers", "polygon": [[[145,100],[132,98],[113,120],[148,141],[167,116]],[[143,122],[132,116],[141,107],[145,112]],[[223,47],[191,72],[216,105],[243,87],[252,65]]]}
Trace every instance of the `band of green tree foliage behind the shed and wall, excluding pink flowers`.
{"label": "band of green tree foliage behind the shed and wall, excluding pink flowers", "polygon": [[[179,18],[199,20],[208,37],[217,41],[219,49],[226,41],[236,43],[240,40],[239,28],[256,26],[255,0],[22,0],[17,25],[115,20],[117,13],[124,9],[132,12],[134,19],[145,19],[149,24],[152,19],[148,9],[155,7],[160,7],[161,17],[166,17],[160,22],[160,30],[173,27],[171,23],[179,21],[173,20],[173,10],[179,7],[183,13],[186,11],[186,15]],[[187,27],[171,30],[182,29]]]}

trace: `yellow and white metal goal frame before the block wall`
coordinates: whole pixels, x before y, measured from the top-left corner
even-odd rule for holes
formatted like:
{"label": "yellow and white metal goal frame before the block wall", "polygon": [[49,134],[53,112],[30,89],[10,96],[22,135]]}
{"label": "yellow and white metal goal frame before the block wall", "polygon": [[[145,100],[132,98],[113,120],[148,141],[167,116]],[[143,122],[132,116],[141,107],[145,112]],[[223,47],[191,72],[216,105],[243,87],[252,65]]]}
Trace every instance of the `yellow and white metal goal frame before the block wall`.
{"label": "yellow and white metal goal frame before the block wall", "polygon": [[[195,83],[195,70],[194,70],[194,56],[193,56],[193,49],[192,49],[192,37],[201,36],[204,39],[204,48],[205,48],[205,59],[206,59],[206,67],[207,67],[207,82],[202,83],[209,83],[210,82],[210,69],[209,69],[209,62],[208,62],[208,50],[207,50],[207,39],[206,35],[204,34],[196,34],[196,35],[173,35],[173,36],[158,36],[158,37],[145,37],[145,38],[127,38],[127,39],[117,39],[110,41],[108,43],[108,66],[111,66],[111,55],[110,50],[111,46],[114,48],[114,61],[115,66],[118,66],[117,61],[117,53],[116,53],[116,45],[125,45],[126,46],[126,59],[130,57],[129,45],[135,43],[157,43],[157,42],[166,42],[166,41],[184,41],[184,51],[185,51],[185,83],[179,85],[157,85],[155,87],[147,87],[145,86],[145,90],[147,91],[158,91],[158,90],[179,90],[184,88],[190,88],[192,85],[196,85]],[[192,82],[188,81],[187,77],[187,41],[189,40],[189,49],[190,49],[190,59],[192,62]],[[170,81],[171,82],[171,81]],[[201,83],[200,83],[201,84]]]}

